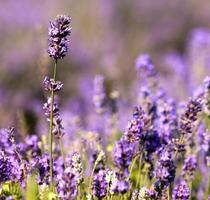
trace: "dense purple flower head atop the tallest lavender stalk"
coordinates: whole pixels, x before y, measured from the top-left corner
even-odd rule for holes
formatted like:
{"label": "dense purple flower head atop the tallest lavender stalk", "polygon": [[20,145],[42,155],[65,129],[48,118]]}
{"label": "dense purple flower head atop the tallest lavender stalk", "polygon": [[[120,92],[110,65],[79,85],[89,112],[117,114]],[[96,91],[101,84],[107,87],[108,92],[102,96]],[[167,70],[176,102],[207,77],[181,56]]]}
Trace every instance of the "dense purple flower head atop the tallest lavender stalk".
{"label": "dense purple flower head atop the tallest lavender stalk", "polygon": [[71,34],[71,18],[58,15],[49,24],[48,53],[55,60],[63,58],[68,51],[68,36]]}

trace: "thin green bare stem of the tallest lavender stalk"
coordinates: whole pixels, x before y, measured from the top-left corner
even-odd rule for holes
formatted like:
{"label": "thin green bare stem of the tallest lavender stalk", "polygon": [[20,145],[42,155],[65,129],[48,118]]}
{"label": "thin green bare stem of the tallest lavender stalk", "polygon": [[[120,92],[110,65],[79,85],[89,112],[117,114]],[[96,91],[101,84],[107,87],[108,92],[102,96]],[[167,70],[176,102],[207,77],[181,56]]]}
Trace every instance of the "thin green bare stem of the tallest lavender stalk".
{"label": "thin green bare stem of the tallest lavender stalk", "polygon": [[[57,60],[55,60],[53,79],[56,81]],[[53,106],[54,106],[54,90],[51,91],[51,105],[50,105],[50,132],[49,132],[49,153],[50,153],[50,191],[53,192]]]}

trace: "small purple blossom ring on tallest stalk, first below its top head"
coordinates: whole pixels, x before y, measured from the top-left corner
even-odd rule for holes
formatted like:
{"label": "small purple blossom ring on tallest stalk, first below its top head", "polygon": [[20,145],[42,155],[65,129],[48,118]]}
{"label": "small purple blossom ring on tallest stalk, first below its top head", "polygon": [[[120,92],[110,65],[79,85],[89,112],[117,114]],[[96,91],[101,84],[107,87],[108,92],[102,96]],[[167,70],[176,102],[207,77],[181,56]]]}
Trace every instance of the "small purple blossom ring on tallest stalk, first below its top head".
{"label": "small purple blossom ring on tallest stalk, first below its top head", "polygon": [[46,76],[43,81],[43,86],[46,91],[53,90],[54,92],[57,92],[62,89],[63,83],[60,81],[55,81],[53,78],[50,79],[48,76]]}

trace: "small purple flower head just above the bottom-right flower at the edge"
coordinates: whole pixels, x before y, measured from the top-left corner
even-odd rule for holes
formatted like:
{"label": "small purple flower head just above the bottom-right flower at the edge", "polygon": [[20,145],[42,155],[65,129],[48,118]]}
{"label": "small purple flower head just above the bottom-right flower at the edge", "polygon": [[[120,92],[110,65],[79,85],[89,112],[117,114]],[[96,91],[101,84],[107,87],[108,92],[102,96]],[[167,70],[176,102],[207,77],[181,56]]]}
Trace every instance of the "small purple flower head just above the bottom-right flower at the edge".
{"label": "small purple flower head just above the bottom-right flower at the edge", "polygon": [[182,168],[182,176],[186,180],[192,180],[196,169],[197,169],[196,157],[194,155],[191,155],[187,157],[184,161],[184,166]]}

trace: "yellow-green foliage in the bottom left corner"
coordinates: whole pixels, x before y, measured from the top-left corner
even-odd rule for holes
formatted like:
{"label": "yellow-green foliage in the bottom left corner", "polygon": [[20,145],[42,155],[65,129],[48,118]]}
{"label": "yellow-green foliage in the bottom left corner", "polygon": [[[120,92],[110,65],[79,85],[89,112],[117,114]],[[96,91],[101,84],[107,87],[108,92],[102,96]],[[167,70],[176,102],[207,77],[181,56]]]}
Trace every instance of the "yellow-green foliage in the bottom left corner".
{"label": "yellow-green foliage in the bottom left corner", "polygon": [[14,182],[6,182],[2,185],[0,191],[0,198],[2,200],[6,200],[8,197],[13,197],[14,200],[21,200],[22,198],[22,191],[20,188],[19,183]]}

